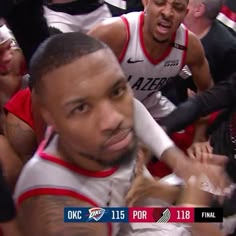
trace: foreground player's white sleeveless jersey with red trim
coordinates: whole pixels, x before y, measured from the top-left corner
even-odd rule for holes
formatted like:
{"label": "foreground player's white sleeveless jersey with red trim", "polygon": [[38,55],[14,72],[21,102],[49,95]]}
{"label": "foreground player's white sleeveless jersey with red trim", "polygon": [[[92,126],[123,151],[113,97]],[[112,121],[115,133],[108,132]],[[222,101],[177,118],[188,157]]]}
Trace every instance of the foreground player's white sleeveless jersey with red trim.
{"label": "foreground player's white sleeveless jersey with red trim", "polygon": [[[73,197],[94,207],[126,206],[125,196],[134,176],[135,160],[123,167],[93,172],[44,152],[45,144],[44,141],[20,174],[14,194],[18,205],[29,197],[48,194]],[[152,178],[146,168],[144,171],[145,176]],[[142,204],[142,206],[168,205],[166,202],[152,198],[148,198]],[[144,225],[145,234],[148,236],[162,236],[159,231],[173,232],[173,228],[175,230],[181,228],[181,232],[186,231],[181,225],[169,223],[161,227],[156,223]],[[107,223],[108,236],[143,236],[143,229],[138,226],[139,223]]]}

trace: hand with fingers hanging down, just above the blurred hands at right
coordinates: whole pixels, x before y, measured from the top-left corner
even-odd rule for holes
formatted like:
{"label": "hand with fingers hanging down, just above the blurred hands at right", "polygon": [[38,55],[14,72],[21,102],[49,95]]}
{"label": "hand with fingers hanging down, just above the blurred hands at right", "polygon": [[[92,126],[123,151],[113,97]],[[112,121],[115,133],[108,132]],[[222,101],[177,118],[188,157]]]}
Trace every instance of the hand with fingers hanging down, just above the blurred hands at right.
{"label": "hand with fingers hanging down, just above the blurred hands at right", "polygon": [[[191,147],[189,147],[187,150],[187,154],[190,158],[198,159],[199,161],[204,161],[202,159],[203,157],[202,153],[212,154],[212,152],[213,152],[213,148],[210,145],[209,141],[193,143]],[[208,157],[210,158],[212,157],[212,155],[209,155]]]}

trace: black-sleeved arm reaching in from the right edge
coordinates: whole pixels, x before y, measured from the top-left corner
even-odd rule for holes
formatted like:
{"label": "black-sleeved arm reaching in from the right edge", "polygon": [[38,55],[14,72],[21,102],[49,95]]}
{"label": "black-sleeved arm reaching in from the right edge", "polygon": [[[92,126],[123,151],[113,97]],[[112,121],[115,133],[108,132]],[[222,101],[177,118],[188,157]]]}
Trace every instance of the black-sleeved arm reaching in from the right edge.
{"label": "black-sleeved arm reaching in from the right edge", "polygon": [[235,101],[236,74],[229,80],[190,98],[176,110],[161,119],[167,133],[182,130],[201,116],[233,106]]}

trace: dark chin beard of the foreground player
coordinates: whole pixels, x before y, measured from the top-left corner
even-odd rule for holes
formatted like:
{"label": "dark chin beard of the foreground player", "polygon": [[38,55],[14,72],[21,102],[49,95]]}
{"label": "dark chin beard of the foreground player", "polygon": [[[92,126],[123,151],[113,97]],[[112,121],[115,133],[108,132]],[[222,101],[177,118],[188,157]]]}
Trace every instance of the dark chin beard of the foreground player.
{"label": "dark chin beard of the foreground player", "polygon": [[99,165],[102,165],[104,167],[113,167],[120,165],[128,165],[137,156],[137,151],[138,151],[138,145],[137,145],[137,140],[135,139],[134,145],[115,160],[103,160],[100,159],[99,157],[95,157],[84,152],[79,152],[79,154],[90,160],[97,162]]}

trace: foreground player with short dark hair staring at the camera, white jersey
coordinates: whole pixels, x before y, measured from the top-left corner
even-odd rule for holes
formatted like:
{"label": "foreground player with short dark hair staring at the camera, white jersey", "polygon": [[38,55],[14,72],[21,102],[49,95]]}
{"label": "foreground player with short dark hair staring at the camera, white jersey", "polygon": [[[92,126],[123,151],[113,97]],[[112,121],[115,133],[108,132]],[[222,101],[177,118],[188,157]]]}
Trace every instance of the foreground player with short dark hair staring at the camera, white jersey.
{"label": "foreground player with short dark hair staring at the camera, white jersey", "polygon": [[[24,235],[118,235],[120,224],[67,224],[62,214],[66,206],[125,206],[137,138],[133,96],[115,56],[87,35],[59,34],[39,46],[30,74],[40,112],[54,132],[25,165],[16,186]],[[158,134],[161,158],[185,159],[161,128]],[[194,166],[225,186],[216,166]]]}

